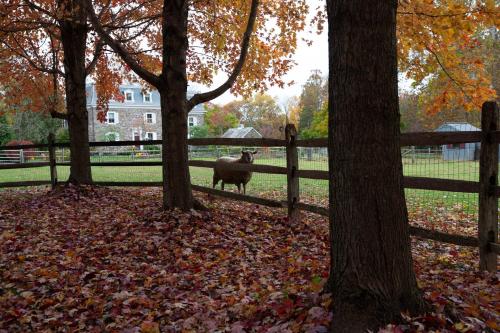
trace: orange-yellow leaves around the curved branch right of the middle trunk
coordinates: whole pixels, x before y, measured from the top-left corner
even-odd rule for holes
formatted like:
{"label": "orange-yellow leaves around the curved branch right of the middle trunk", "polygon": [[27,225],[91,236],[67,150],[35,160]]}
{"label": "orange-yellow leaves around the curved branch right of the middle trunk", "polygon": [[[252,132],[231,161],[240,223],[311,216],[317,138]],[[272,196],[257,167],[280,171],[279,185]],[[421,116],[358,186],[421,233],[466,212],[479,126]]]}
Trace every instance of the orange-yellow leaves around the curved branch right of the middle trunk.
{"label": "orange-yellow leaves around the curved branch right of the middle trunk", "polygon": [[[189,79],[210,85],[221,70],[230,73],[239,56],[249,0],[193,2],[189,20]],[[306,26],[304,0],[262,1],[243,72],[231,88],[249,97],[270,85],[284,86],[294,65],[297,34]]]}

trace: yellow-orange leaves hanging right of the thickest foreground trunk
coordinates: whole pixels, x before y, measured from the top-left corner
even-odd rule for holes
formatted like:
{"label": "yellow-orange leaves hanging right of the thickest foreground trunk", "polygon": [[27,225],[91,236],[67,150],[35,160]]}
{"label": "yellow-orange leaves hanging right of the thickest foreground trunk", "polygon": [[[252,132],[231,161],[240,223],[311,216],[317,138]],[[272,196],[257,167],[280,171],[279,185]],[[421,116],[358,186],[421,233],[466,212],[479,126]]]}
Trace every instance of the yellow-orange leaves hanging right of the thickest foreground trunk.
{"label": "yellow-orange leaves hanging right of the thickest foreground trunk", "polygon": [[498,8],[490,0],[400,3],[399,66],[416,87],[425,88],[428,112],[477,111],[496,97],[492,68],[498,62],[493,59],[497,24]]}

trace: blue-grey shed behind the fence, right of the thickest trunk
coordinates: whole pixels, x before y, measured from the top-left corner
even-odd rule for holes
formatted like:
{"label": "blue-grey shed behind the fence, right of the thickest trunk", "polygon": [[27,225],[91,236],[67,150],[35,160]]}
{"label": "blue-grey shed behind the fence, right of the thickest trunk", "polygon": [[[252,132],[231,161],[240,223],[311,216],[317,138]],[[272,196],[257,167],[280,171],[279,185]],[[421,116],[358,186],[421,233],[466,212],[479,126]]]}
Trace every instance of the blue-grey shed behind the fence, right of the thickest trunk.
{"label": "blue-grey shed behind the fence, right of the thickest trunk", "polygon": [[[469,123],[445,123],[436,129],[436,132],[471,132],[481,131]],[[479,142],[456,143],[443,145],[443,160],[445,161],[474,161],[479,159]]]}

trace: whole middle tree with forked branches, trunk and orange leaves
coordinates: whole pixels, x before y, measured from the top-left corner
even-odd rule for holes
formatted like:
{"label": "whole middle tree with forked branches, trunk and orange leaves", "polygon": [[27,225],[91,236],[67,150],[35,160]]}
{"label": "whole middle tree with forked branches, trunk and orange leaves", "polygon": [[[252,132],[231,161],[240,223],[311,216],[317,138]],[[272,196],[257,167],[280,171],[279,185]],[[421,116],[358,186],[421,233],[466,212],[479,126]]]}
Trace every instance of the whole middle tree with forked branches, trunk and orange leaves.
{"label": "whole middle tree with forked branches, trunk and orange leaves", "polygon": [[[293,65],[296,31],[304,26],[305,1],[265,2],[260,10],[257,0],[137,1],[131,6],[117,2],[114,12],[125,13],[120,22],[123,29],[114,25],[113,30],[106,22],[112,21],[114,12],[98,16],[90,0],[87,5],[102,39],[132,71],[159,91],[164,138],[163,204],[165,208],[192,208],[186,141],[188,112],[229,89],[241,93],[265,89],[270,84],[283,85],[281,77]],[[99,4],[97,9],[101,9]],[[156,19],[152,29],[141,28],[141,22],[147,21],[143,17]],[[266,24],[269,19],[275,20],[279,29],[270,28]],[[257,33],[251,39],[253,30]],[[144,36],[141,45],[151,48],[150,58],[136,57],[141,45],[127,44],[124,34],[134,31]],[[159,59],[159,64],[152,64],[151,59]],[[228,73],[228,79],[216,89],[188,100],[188,80],[210,84],[216,70]],[[237,80],[240,73],[242,79]]]}

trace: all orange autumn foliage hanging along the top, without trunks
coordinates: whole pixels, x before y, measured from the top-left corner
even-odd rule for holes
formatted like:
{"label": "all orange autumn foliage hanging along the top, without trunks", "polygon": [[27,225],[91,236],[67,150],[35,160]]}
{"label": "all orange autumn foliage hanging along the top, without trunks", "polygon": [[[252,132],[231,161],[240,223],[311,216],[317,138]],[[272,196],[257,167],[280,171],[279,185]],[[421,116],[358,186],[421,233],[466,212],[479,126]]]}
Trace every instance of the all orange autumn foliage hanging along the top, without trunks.
{"label": "all orange autumn foliage hanging along the top, without trunks", "polygon": [[[33,10],[20,0],[0,5],[0,12],[5,14],[0,18],[0,83],[3,87],[10,87],[12,82],[22,86],[16,96],[20,98],[24,92],[34,103],[32,109],[37,111],[48,109],[42,106],[42,101],[47,102],[54,95],[50,75],[37,73],[52,67],[64,71],[56,21],[66,15],[67,8],[58,6],[53,0],[30,2],[43,10]],[[158,73],[161,69],[157,45],[161,40],[162,2],[137,1],[133,7],[127,7],[127,3],[121,0],[102,2],[102,20],[112,26],[117,36],[127,39],[127,49],[142,65]],[[99,2],[95,5],[99,6]],[[217,71],[231,71],[239,54],[248,5],[249,0],[193,2],[188,26],[188,77],[191,82],[210,85]],[[233,93],[249,96],[271,85],[283,87],[288,83],[283,76],[295,64],[293,54],[298,34],[309,23],[319,30],[323,28],[325,13],[322,11],[308,22],[307,13],[312,10],[317,9],[310,8],[304,0],[262,1],[248,59],[242,75],[232,87]],[[492,59],[494,51],[485,49],[481,36],[497,26],[498,8],[493,0],[400,1],[397,28],[400,70],[415,80],[418,87],[426,87],[429,77],[437,81],[434,86],[438,88],[425,103],[429,112],[457,106],[477,110],[483,101],[496,97],[491,84],[492,73],[487,68],[488,63],[495,61]],[[91,35],[89,62],[95,42]],[[51,50],[55,50],[55,58]],[[97,62],[94,76],[103,112],[109,99],[120,98],[117,84],[123,78],[136,80],[127,66],[112,60],[109,53],[106,55]],[[17,71],[16,75],[12,71]],[[23,75],[30,71],[33,75]],[[33,82],[35,79],[41,82]],[[59,77],[61,91],[62,85]],[[8,102],[18,103],[19,98]]]}

